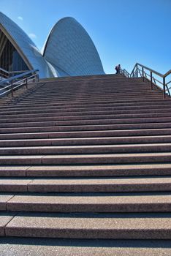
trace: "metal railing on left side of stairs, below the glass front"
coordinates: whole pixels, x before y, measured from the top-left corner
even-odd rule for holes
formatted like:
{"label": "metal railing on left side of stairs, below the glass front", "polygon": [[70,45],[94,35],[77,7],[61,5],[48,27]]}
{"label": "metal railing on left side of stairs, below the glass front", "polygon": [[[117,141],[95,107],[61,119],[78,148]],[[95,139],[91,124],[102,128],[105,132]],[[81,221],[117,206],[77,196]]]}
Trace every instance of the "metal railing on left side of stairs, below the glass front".
{"label": "metal railing on left side of stairs, below the glass front", "polygon": [[29,70],[27,72],[24,72],[20,75],[15,75],[12,78],[8,78],[5,80],[2,80],[0,82],[0,97],[3,97],[5,94],[11,93],[12,97],[14,96],[13,92],[22,87],[26,86],[28,87],[28,83],[31,83],[33,81],[39,81],[39,75],[38,72],[39,69]]}

